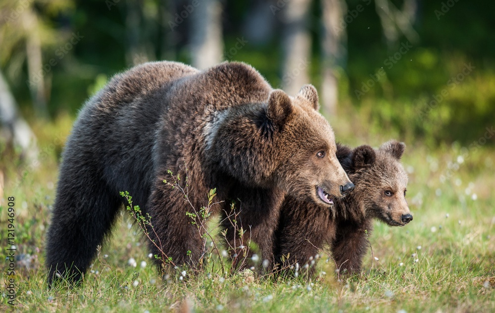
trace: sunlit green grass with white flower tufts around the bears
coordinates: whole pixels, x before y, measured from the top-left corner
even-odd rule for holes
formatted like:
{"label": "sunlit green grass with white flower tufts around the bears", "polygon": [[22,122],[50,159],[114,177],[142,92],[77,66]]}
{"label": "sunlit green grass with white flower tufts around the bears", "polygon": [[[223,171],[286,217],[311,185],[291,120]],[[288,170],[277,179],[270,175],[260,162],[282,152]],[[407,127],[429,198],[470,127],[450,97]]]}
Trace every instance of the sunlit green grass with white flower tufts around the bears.
{"label": "sunlit green grass with white flower tufts around the bears", "polygon": [[[313,280],[259,279],[248,272],[221,275],[215,265],[198,276],[163,281],[148,258],[146,241],[123,212],[81,287],[47,289],[43,266],[45,233],[57,179],[56,157],[70,118],[34,126],[47,157],[26,166],[1,146],[5,189],[0,207],[0,247],[7,245],[7,197],[15,197],[15,276],[1,262],[1,281],[15,280],[15,306],[1,289],[0,311],[42,312],[494,312],[495,186],[494,150],[462,155],[460,145],[434,151],[408,143],[408,202],[414,220],[403,228],[376,222],[373,248],[361,276],[338,280],[325,257]],[[335,129],[339,129],[335,127]],[[337,134],[347,138],[347,134]],[[355,138],[348,136],[355,143]],[[390,138],[365,138],[378,146]],[[488,145],[487,145],[488,146]],[[14,182],[27,173],[19,188]],[[442,178],[444,177],[444,178]],[[129,264],[133,258],[137,266]],[[378,261],[376,261],[376,259]],[[21,260],[22,259],[22,260]],[[147,264],[141,267],[142,261]],[[143,264],[144,265],[144,264]]]}

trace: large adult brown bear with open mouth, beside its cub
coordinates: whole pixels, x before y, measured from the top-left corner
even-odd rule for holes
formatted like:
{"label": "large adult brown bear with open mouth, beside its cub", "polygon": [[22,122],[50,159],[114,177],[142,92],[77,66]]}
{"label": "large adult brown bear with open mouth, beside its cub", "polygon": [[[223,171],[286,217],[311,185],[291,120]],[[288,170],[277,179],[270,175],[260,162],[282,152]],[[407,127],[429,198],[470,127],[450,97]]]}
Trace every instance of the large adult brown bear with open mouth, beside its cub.
{"label": "large adult brown bear with open mouth, beside its cub", "polygon": [[[292,98],[242,63],[198,71],[152,62],[116,75],[85,104],[66,144],[48,231],[49,283],[81,279],[122,208],[120,191],[150,214],[150,235],[175,264],[197,265],[203,239],[186,212],[206,205],[215,187],[224,202],[213,213],[238,201],[238,226],[272,260],[285,195],[328,209],[317,188],[337,197],[352,185],[317,101],[313,86]],[[163,182],[167,170],[187,176],[190,204]],[[227,236],[234,244],[235,232]]]}

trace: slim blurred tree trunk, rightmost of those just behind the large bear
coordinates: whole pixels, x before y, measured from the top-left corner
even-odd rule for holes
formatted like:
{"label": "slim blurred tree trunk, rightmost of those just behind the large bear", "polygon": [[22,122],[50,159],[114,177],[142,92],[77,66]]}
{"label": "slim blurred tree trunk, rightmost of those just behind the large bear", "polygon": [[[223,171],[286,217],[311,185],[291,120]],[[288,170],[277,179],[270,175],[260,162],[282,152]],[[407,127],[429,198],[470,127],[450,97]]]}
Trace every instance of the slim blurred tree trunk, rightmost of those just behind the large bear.
{"label": "slim blurred tree trunk, rightmost of those just behind the large bear", "polygon": [[325,116],[337,114],[338,81],[337,66],[343,66],[346,58],[346,28],[341,26],[347,5],[344,0],[322,0],[323,41],[322,41],[322,83],[320,103]]}

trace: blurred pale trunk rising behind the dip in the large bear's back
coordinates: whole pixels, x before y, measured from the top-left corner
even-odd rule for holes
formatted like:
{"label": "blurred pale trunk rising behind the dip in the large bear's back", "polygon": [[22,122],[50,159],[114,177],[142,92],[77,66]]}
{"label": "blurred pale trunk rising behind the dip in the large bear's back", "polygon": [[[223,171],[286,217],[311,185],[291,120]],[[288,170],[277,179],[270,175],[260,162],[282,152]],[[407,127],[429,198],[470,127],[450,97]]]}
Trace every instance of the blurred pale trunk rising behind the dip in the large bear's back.
{"label": "blurred pale trunk rising behind the dip in the large bear's back", "polygon": [[191,16],[192,65],[205,69],[222,61],[222,5],[218,0],[202,0]]}

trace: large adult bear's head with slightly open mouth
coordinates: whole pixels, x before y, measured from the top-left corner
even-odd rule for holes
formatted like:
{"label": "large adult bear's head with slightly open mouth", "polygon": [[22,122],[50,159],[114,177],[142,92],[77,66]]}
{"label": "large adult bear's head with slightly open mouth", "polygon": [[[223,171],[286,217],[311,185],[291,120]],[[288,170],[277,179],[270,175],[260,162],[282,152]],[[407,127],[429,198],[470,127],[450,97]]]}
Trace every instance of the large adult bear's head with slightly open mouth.
{"label": "large adult bear's head with slightly open mouth", "polygon": [[336,157],[332,128],[318,112],[312,85],[296,97],[272,90],[265,103],[217,114],[206,138],[207,155],[252,187],[279,188],[321,207],[354,188]]}

